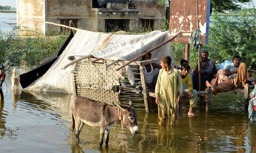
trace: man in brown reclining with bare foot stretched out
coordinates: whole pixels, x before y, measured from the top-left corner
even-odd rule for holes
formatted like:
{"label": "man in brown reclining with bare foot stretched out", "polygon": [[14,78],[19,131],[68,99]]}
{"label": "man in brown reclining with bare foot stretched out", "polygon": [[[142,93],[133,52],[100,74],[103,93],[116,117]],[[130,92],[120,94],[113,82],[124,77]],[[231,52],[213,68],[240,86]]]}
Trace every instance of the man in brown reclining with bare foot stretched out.
{"label": "man in brown reclining with bare foot stretched out", "polygon": [[217,95],[219,92],[228,92],[236,87],[244,87],[249,80],[249,74],[245,63],[241,63],[242,58],[238,55],[233,57],[234,66],[227,66],[224,70],[224,74],[229,77],[220,85],[213,87],[208,81],[206,81],[207,87],[211,87],[211,92]]}

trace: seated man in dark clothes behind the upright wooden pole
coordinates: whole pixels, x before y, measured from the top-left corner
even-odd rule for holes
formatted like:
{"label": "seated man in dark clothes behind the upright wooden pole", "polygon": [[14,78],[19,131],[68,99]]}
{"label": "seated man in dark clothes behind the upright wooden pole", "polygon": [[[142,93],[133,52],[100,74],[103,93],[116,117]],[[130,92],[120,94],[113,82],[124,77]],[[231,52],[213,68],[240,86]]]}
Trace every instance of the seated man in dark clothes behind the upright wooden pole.
{"label": "seated man in dark clothes behind the upright wooden pole", "polygon": [[193,72],[193,85],[194,89],[199,88],[199,81],[198,81],[198,73],[201,74],[201,88],[206,87],[205,82],[209,81],[214,78],[214,74],[217,73],[215,61],[208,59],[209,52],[207,50],[202,50],[201,52],[201,59],[200,61],[200,69],[198,70],[198,64]]}

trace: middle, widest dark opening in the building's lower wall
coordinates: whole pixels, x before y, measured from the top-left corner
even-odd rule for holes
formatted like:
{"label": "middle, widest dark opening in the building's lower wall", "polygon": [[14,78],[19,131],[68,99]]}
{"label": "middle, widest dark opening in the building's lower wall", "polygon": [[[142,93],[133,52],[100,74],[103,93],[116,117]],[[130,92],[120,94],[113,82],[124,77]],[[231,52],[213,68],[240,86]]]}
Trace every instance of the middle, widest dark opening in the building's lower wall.
{"label": "middle, widest dark opening in the building's lower wall", "polygon": [[105,20],[106,32],[129,31],[130,20],[108,19]]}

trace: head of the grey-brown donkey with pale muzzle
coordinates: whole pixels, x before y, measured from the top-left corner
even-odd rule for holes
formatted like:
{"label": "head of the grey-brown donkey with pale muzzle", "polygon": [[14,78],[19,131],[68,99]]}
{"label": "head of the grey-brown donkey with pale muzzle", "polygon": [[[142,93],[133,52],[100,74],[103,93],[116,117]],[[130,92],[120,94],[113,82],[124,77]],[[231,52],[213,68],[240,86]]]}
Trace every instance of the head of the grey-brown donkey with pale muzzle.
{"label": "head of the grey-brown donkey with pale muzzle", "polygon": [[129,105],[119,105],[118,107],[122,111],[122,120],[125,126],[131,131],[131,134],[137,134],[139,132],[139,127],[137,124],[137,113],[134,109],[134,104],[132,101],[129,102]]}

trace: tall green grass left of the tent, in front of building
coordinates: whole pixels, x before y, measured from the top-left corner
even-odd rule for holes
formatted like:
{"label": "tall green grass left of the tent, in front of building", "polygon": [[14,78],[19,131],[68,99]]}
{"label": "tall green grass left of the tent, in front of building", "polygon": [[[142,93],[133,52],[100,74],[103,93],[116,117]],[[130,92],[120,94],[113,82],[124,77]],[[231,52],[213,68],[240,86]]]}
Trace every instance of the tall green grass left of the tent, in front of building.
{"label": "tall green grass left of the tent, in front of building", "polygon": [[60,48],[69,36],[67,31],[47,32],[46,35],[42,35],[36,30],[27,29],[35,35],[17,37],[19,28],[15,27],[9,32],[0,30],[0,63],[38,65]]}

